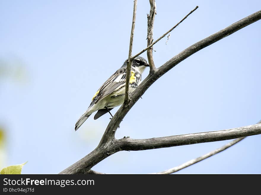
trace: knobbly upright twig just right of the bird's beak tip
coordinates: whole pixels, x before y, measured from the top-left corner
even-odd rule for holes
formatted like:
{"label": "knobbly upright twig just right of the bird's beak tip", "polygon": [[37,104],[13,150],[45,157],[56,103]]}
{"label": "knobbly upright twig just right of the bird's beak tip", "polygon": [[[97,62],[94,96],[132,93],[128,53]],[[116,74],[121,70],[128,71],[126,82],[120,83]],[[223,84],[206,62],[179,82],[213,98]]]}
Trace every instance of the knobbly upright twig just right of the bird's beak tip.
{"label": "knobbly upright twig just right of the bird's beak tip", "polygon": [[[148,18],[147,46],[151,45],[153,41],[153,25],[154,25],[155,15],[157,14],[155,0],[149,0],[149,4],[150,4],[150,11],[149,11],[149,15],[147,15]],[[153,73],[155,72],[156,68],[152,56],[152,47],[149,47],[149,49],[147,50],[147,58],[149,61],[149,72]]]}

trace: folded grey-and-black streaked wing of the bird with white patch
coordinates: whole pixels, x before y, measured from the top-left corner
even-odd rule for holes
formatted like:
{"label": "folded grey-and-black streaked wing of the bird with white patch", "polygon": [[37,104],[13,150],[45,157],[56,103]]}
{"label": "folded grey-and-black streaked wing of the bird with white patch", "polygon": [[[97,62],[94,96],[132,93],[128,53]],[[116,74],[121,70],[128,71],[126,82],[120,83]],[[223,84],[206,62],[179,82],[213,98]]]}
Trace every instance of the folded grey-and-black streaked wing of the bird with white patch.
{"label": "folded grey-and-black streaked wing of the bird with white patch", "polygon": [[126,71],[125,68],[117,70],[96,92],[93,96],[91,104],[98,103],[101,99],[105,98],[113,91],[117,91],[126,81]]}

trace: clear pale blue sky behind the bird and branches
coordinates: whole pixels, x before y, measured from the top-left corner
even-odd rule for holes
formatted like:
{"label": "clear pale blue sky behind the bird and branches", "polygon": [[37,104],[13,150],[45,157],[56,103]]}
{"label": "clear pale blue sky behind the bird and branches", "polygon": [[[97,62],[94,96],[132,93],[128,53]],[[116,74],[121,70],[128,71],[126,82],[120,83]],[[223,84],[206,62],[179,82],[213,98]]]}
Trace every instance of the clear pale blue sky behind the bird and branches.
{"label": "clear pale blue sky behind the bird and branches", "polygon": [[[154,46],[158,67],[195,42],[258,11],[260,1],[156,1],[154,39],[199,6]],[[75,132],[94,93],[128,58],[133,1],[0,1],[0,125],[5,166],[58,173],[98,145],[109,115]],[[149,1],[138,1],[133,54],[146,47]],[[235,128],[261,119],[257,21],[197,52],[157,80],[128,112],[116,138],[151,138]],[[142,54],[146,57],[146,54]],[[147,69],[143,78],[148,74]],[[113,109],[115,113],[117,109]],[[133,125],[133,122],[136,125]],[[151,173],[182,164],[229,141],[123,151],[93,167]],[[182,174],[261,173],[260,135],[183,169]]]}

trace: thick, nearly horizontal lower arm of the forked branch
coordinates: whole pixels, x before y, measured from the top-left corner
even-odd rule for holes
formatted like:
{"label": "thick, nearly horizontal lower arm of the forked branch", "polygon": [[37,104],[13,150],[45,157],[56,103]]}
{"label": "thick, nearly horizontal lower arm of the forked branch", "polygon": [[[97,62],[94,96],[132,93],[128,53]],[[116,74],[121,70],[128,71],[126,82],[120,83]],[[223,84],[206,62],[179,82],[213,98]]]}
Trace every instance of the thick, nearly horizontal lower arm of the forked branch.
{"label": "thick, nearly horizontal lower arm of the forked branch", "polygon": [[197,143],[216,142],[261,134],[261,124],[249,125],[221,131],[210,131],[149,139],[122,138],[115,140],[116,147],[121,150],[150,150]]}

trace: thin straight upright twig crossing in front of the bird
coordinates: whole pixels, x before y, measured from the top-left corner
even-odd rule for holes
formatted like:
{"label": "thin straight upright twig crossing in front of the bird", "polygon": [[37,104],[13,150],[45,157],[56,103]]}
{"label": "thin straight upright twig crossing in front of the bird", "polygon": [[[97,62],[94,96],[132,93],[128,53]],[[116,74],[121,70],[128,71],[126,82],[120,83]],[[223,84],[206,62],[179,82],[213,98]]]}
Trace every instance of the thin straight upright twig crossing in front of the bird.
{"label": "thin straight upright twig crossing in front of the bird", "polygon": [[134,28],[135,28],[135,21],[136,21],[136,12],[137,12],[137,0],[134,0],[132,25],[131,25],[131,32],[130,32],[129,56],[127,61],[127,71],[126,71],[125,98],[124,98],[125,106],[128,105],[129,103],[130,68],[132,65],[131,53],[132,53],[133,35],[134,35]]}

